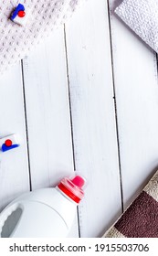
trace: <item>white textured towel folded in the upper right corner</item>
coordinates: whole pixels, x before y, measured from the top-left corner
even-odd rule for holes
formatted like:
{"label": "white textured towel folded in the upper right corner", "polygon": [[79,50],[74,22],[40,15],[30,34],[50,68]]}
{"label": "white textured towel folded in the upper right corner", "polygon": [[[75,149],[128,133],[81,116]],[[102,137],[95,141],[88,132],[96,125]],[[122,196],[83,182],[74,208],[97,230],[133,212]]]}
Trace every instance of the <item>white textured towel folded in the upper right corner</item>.
{"label": "white textured towel folded in the upper right corner", "polygon": [[158,0],[123,0],[115,13],[158,52]]}

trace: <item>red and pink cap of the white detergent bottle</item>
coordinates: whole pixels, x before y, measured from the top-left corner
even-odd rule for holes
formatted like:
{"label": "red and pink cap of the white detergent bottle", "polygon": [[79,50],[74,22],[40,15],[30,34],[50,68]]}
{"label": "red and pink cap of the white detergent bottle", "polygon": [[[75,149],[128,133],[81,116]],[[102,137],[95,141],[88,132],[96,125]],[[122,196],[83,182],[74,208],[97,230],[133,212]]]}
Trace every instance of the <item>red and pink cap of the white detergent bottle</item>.
{"label": "red and pink cap of the white detergent bottle", "polygon": [[84,191],[82,190],[84,184],[85,180],[81,176],[75,176],[73,179],[65,177],[58,184],[58,188],[74,202],[79,204],[84,196]]}

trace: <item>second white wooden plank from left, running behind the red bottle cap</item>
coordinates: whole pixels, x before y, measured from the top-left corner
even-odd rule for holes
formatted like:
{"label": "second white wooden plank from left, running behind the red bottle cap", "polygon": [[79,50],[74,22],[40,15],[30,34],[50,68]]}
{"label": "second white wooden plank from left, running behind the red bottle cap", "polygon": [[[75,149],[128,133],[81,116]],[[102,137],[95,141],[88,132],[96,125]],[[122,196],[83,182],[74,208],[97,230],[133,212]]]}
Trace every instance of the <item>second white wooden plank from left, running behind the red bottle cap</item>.
{"label": "second white wooden plank from left, running behind the red bottle cap", "polygon": [[[32,188],[74,174],[63,28],[24,60]],[[71,236],[78,236],[77,217]]]}

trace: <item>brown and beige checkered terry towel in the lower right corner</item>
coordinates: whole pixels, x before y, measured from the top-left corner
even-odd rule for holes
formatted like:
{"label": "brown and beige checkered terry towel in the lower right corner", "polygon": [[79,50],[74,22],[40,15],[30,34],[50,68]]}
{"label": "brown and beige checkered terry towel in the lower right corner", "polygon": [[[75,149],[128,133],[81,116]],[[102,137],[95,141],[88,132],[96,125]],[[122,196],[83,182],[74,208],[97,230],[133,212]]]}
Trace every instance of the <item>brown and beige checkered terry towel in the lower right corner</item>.
{"label": "brown and beige checkered terry towel in the lower right corner", "polygon": [[105,238],[158,238],[158,171]]}

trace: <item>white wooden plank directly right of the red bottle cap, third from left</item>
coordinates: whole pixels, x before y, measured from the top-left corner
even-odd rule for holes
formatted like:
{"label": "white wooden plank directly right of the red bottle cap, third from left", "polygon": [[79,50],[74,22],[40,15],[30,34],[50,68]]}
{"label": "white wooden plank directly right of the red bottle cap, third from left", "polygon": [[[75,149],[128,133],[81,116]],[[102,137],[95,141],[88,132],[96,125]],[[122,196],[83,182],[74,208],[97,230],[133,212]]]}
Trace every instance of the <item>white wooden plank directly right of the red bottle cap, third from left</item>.
{"label": "white wooden plank directly right of the red bottle cap, third from left", "polygon": [[75,165],[89,183],[81,237],[100,236],[121,214],[109,33],[104,0],[91,0],[66,26]]}

